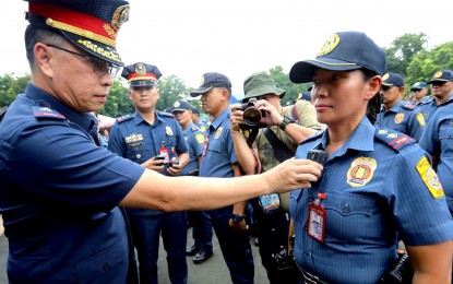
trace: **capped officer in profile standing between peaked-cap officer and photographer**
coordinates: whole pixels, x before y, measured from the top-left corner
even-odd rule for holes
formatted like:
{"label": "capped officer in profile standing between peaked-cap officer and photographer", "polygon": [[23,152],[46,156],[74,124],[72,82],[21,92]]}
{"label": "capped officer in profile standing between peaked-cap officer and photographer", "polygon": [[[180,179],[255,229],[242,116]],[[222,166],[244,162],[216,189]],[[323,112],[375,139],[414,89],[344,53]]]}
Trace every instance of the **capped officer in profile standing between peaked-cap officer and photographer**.
{"label": "capped officer in profile standing between peaked-cap officer and photographer", "polygon": [[[229,130],[231,82],[220,73],[203,74],[200,87],[190,93],[200,96],[204,111],[214,117],[206,130],[200,166],[201,177],[240,176]],[[245,220],[247,202],[208,211],[222,253],[234,283],[253,283],[254,268]]]}

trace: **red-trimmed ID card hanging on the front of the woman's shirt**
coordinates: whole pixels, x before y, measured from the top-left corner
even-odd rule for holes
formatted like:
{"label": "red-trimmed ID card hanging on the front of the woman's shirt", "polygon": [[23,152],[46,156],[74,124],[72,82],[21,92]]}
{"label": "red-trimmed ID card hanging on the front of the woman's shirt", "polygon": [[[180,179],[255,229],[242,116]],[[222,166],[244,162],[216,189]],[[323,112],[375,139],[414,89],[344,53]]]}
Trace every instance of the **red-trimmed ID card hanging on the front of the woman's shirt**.
{"label": "red-trimmed ID card hanging on the front of the woman's shirt", "polygon": [[308,235],[321,242],[325,236],[325,209],[321,202],[325,198],[326,193],[318,192],[317,199],[308,204]]}

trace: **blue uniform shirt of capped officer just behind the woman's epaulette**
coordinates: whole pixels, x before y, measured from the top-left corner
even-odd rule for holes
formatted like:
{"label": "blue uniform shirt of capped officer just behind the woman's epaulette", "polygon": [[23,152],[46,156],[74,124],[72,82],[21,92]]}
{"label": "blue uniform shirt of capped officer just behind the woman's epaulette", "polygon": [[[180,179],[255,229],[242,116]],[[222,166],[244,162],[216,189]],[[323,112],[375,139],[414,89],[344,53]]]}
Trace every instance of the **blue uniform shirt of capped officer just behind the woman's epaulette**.
{"label": "blue uniform shirt of capped officer just behind the woman's epaulette", "polygon": [[378,128],[386,127],[420,140],[425,129],[425,118],[417,107],[400,100],[385,111],[383,107],[375,120]]}

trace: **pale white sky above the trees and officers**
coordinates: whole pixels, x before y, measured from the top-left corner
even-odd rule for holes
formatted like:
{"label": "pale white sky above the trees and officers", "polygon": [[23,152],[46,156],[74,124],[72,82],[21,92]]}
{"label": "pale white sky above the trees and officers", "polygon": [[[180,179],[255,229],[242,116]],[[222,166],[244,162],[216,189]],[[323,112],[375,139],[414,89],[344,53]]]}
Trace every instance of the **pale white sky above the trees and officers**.
{"label": "pale white sky above the trees and officers", "polygon": [[[406,33],[428,35],[428,48],[453,40],[452,0],[130,0],[118,33],[126,64],[145,62],[198,87],[220,72],[243,93],[243,80],[275,66],[314,59],[335,32],[365,32],[379,46]],[[0,74],[28,72],[23,34],[27,2],[2,1]]]}

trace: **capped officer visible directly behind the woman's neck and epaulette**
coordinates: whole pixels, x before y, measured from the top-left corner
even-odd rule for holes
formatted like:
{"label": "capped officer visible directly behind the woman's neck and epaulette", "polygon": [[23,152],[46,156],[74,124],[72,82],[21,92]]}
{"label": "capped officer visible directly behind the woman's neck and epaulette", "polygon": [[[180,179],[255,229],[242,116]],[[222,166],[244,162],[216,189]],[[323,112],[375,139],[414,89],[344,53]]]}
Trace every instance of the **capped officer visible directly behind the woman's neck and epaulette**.
{"label": "capped officer visible directly behind the woman's neck and epaulette", "polygon": [[388,127],[419,140],[425,128],[425,118],[418,108],[404,103],[404,79],[396,73],[382,76],[383,105],[375,126]]}

